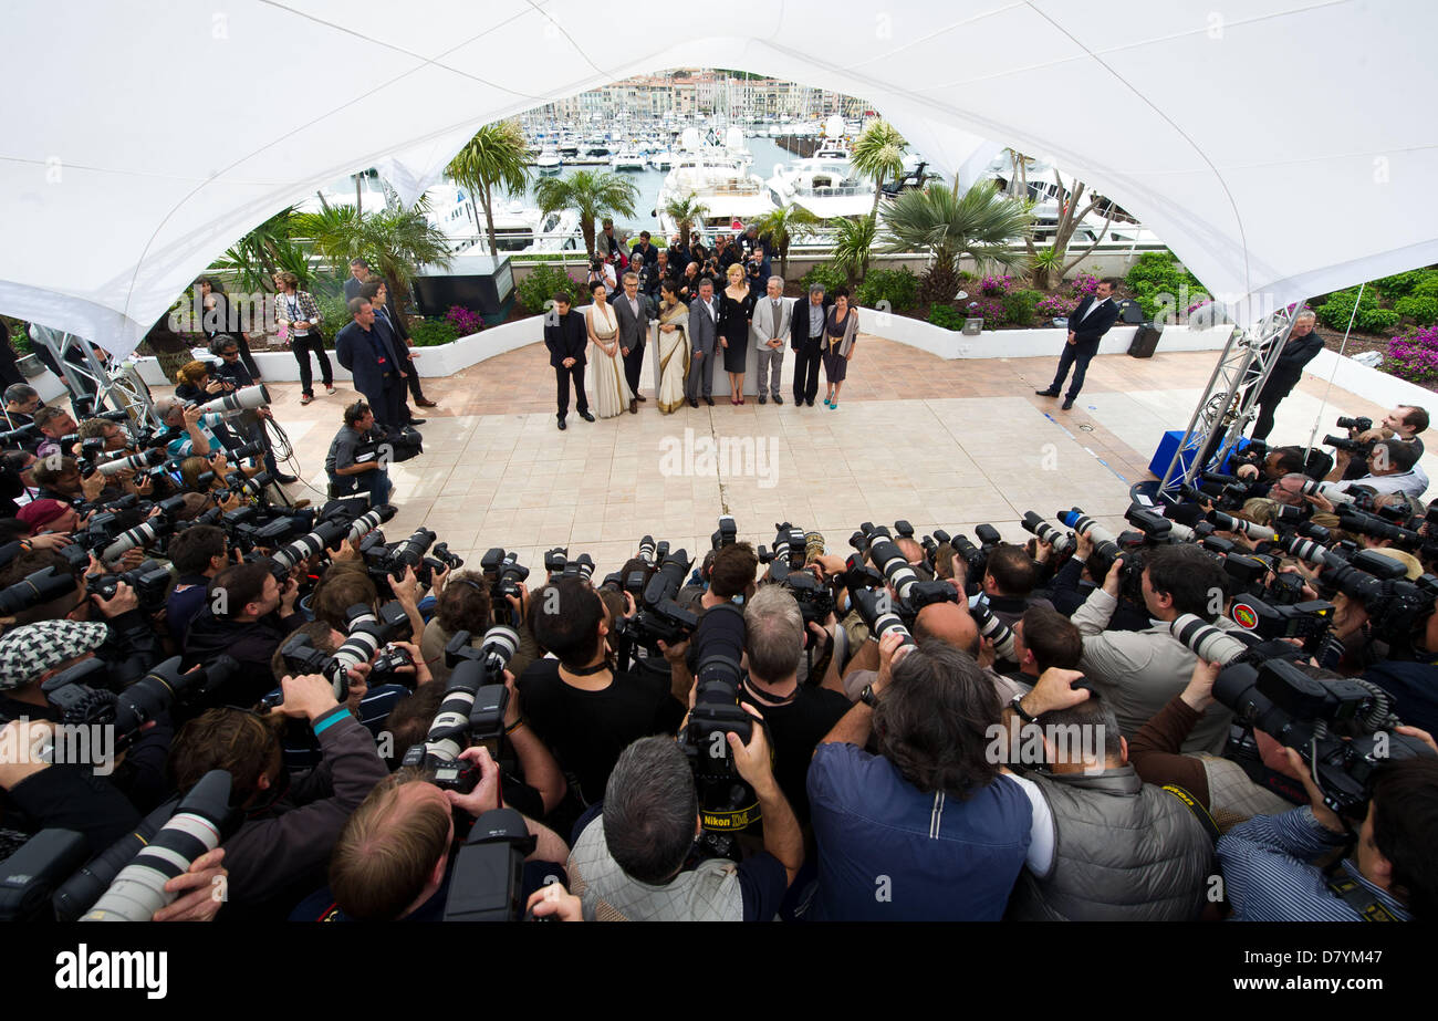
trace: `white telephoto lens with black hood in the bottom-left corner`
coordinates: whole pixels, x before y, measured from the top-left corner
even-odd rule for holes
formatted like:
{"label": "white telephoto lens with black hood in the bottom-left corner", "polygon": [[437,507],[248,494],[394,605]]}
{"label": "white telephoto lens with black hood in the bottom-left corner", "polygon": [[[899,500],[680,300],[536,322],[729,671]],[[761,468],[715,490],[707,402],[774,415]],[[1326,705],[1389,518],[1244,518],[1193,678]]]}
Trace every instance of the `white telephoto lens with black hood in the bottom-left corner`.
{"label": "white telephoto lens with black hood in the bottom-left corner", "polygon": [[168,893],[165,883],[219,847],[242,820],[243,812],[230,808],[230,774],[211,769],[81,922],[148,922],[180,896]]}

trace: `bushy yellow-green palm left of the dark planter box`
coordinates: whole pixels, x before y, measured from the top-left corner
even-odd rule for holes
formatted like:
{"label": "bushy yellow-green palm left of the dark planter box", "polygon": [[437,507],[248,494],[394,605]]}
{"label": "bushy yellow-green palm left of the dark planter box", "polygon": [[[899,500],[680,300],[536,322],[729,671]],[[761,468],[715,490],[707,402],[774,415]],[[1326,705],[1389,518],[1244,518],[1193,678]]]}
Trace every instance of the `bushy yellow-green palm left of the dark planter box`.
{"label": "bushy yellow-green palm left of the dark planter box", "polygon": [[334,266],[362,257],[384,278],[390,308],[404,315],[410,279],[420,266],[449,266],[449,239],[424,216],[424,200],[407,210],[361,213],[352,206],[321,201],[318,213],[302,213],[296,229]]}

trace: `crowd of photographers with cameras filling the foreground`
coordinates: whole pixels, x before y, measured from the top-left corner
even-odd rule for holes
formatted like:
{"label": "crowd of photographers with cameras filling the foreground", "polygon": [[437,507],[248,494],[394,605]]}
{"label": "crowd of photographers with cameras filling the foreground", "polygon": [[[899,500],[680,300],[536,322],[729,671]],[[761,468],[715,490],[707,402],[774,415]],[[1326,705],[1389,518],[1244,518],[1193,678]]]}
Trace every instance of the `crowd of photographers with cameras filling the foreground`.
{"label": "crowd of photographers with cameras filling the foreground", "polygon": [[0,469],[42,489],[0,535],[3,917],[1438,913],[1438,515],[1370,485],[1416,433],[1346,421],[1347,480],[1252,444],[1120,535],[725,516],[697,569],[644,536],[531,591],[385,538],[383,490],[183,492],[206,414]]}

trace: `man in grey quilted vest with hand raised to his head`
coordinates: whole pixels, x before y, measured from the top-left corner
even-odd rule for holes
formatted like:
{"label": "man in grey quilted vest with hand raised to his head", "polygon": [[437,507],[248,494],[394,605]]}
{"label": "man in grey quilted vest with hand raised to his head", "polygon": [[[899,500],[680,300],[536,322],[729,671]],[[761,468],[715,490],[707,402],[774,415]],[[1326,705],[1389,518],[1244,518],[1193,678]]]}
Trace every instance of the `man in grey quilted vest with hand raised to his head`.
{"label": "man in grey quilted vest with hand raised to his head", "polygon": [[[1045,670],[1005,710],[1021,749],[1043,742],[1032,840],[1007,919],[1045,922],[1192,922],[1214,873],[1214,841],[1179,794],[1145,784],[1129,742],[1102,696]],[[1017,716],[1030,722],[1018,726]],[[1038,741],[1030,741],[1030,733]],[[1027,755],[1021,755],[1027,762]]]}

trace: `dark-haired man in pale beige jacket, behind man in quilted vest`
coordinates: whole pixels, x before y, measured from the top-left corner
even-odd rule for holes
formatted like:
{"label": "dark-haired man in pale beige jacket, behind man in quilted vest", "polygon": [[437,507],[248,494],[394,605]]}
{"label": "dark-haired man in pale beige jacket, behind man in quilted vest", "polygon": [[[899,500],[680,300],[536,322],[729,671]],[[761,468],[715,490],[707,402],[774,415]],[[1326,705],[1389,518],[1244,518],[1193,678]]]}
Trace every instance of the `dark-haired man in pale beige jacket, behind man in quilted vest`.
{"label": "dark-haired man in pale beige jacket, behind man in quilted vest", "polygon": [[[1080,536],[1077,557],[1087,557],[1091,549],[1087,536]],[[1169,634],[1169,623],[1191,613],[1218,627],[1229,627],[1221,615],[1227,591],[1224,568],[1209,552],[1182,544],[1159,546],[1145,557],[1143,603],[1153,620],[1152,627],[1142,631],[1104,630],[1119,605],[1122,557],[1113,562],[1103,587],[1090,592],[1071,617],[1084,636],[1078,669],[1113,709],[1125,736],[1137,733],[1188,686],[1194,673],[1198,657]],[[1231,720],[1232,713],[1215,703],[1189,733],[1183,751],[1221,755]]]}

